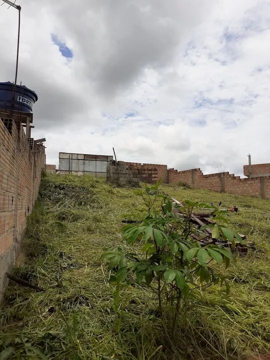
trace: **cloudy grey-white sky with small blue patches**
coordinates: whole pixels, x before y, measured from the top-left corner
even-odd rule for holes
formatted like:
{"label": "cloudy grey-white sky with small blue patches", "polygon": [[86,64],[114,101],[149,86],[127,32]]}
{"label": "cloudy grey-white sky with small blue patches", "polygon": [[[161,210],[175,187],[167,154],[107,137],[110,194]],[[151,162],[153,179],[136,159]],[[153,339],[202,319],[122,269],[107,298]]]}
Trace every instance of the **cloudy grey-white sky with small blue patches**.
{"label": "cloudy grey-white sky with small blue patches", "polygon": [[[270,0],[17,0],[32,135],[58,152],[242,173],[270,162]],[[0,81],[17,11],[0,6]]]}

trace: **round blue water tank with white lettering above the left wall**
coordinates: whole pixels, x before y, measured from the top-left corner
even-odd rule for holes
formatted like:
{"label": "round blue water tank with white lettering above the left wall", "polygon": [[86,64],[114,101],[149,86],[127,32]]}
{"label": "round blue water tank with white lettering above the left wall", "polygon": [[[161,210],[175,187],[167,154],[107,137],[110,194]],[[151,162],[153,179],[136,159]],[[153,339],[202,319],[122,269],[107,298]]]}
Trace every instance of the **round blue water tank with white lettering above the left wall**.
{"label": "round blue water tank with white lettering above the left wall", "polygon": [[[13,83],[0,82],[0,108],[10,109],[12,102]],[[16,111],[32,112],[33,104],[37,100],[34,91],[23,85],[16,85],[13,109]]]}

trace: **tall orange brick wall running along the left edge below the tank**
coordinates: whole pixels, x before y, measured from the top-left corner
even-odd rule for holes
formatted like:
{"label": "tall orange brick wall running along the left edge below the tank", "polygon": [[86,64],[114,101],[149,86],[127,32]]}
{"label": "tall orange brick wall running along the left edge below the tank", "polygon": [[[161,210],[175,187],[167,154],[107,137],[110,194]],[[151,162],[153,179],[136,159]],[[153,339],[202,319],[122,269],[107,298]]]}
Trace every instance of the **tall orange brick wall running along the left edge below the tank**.
{"label": "tall orange brick wall running along the left edge below the tank", "polygon": [[22,125],[8,120],[6,126],[0,119],[0,300],[5,272],[14,265],[45,164],[44,146],[31,149],[33,141],[26,138]]}

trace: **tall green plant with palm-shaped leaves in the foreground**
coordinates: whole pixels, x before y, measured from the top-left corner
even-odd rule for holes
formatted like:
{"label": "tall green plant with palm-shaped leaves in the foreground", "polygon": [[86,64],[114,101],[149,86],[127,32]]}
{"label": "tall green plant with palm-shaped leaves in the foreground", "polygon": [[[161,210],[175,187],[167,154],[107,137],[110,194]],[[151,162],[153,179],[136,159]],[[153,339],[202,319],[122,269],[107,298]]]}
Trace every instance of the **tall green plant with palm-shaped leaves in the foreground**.
{"label": "tall green plant with palm-shaped leaves in the foreground", "polygon": [[[225,211],[189,200],[183,205],[175,204],[159,190],[159,184],[144,185],[144,189],[140,190],[146,207],[145,217],[138,224],[125,225],[122,228],[123,245],[108,249],[102,257],[108,263],[109,281],[116,284],[116,316],[120,286],[146,285],[157,293],[159,313],[163,319],[164,312],[170,308],[171,336],[168,337],[173,338],[181,306],[194,291],[223,283],[226,293],[229,290],[226,278],[211,264],[224,263],[227,268],[235,259],[228,248],[214,243],[201,246],[199,240],[205,237],[205,227],[213,239],[230,241],[232,245],[235,238],[240,242],[241,238],[235,231],[216,223],[226,222]],[[158,205],[159,200],[161,206]],[[192,213],[203,207],[212,209],[215,222],[196,226],[192,222]],[[134,242],[141,244],[139,252],[130,251]]]}

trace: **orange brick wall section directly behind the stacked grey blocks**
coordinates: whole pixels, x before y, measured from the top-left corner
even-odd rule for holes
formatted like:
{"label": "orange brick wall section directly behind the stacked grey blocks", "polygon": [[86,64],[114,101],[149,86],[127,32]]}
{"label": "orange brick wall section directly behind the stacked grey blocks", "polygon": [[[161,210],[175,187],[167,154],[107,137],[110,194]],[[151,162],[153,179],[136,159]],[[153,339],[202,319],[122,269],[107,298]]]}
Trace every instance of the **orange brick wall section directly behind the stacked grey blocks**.
{"label": "orange brick wall section directly behind the stacked grey blocks", "polygon": [[145,180],[148,178],[151,179],[151,181],[147,182],[156,182],[160,178],[162,179],[162,182],[167,183],[168,182],[168,169],[167,165],[160,165],[160,164],[149,164],[149,163],[140,163],[140,162],[126,162],[126,161],[120,161],[121,163],[124,163],[125,165],[129,166],[130,168],[134,170],[138,170],[139,174],[141,174],[142,179]]}

